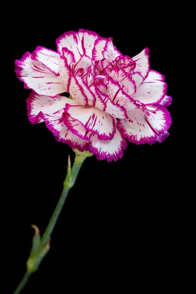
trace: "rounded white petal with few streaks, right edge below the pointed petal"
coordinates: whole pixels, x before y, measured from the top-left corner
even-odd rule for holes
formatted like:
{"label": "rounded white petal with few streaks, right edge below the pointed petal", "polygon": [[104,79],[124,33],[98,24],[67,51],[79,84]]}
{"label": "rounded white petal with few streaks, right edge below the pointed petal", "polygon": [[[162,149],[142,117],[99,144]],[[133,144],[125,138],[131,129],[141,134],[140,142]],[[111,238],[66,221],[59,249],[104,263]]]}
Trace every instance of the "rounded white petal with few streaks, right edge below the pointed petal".
{"label": "rounded white petal with few streaks, right edge below the pointed petal", "polygon": [[165,97],[166,91],[164,76],[150,70],[145,81],[138,86],[136,93],[131,97],[145,105],[157,104]]}

